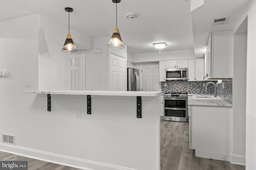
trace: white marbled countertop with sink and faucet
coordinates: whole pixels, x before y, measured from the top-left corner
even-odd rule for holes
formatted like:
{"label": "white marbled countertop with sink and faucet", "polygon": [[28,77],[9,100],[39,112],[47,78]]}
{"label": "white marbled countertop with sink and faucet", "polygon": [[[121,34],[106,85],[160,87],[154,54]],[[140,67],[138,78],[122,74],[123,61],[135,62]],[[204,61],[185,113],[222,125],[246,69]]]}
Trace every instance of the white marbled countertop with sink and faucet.
{"label": "white marbled countertop with sink and faucet", "polygon": [[209,94],[193,94],[191,99],[188,100],[188,105],[232,107],[232,104],[226,102],[219,96],[214,98],[213,95]]}

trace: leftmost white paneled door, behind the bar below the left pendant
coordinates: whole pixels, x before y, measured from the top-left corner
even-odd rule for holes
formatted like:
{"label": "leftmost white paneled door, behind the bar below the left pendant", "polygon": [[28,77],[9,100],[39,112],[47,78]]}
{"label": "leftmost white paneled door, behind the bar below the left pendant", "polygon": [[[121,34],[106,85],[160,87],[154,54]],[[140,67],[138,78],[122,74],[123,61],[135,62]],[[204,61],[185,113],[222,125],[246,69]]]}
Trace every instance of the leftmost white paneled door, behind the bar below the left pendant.
{"label": "leftmost white paneled door, behind the bar below the left pendant", "polygon": [[84,54],[72,54],[70,58],[71,90],[84,90]]}

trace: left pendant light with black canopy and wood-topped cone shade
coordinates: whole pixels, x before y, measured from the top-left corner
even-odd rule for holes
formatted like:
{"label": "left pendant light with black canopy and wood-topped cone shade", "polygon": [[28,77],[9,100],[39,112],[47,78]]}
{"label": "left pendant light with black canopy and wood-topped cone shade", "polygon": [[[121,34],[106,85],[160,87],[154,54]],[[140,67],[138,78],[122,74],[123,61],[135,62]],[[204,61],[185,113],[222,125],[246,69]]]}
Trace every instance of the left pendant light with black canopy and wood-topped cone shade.
{"label": "left pendant light with black canopy and wood-topped cone shade", "polygon": [[68,12],[68,35],[66,37],[66,41],[62,47],[62,52],[64,53],[74,53],[77,51],[76,45],[74,44],[74,41],[69,33],[69,13],[73,12],[72,8],[66,7],[65,11]]}

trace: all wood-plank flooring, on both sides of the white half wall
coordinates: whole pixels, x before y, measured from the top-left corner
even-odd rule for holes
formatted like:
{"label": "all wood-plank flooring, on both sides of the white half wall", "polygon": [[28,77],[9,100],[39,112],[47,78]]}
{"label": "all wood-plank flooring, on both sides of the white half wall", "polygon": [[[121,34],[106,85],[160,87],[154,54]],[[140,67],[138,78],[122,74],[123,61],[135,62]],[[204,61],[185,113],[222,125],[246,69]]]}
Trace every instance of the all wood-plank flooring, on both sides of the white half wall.
{"label": "all wood-plank flooring, on both sides of the white half wall", "polygon": [[[227,161],[198,158],[189,149],[188,122],[161,121],[161,170],[245,170]],[[0,160],[26,160],[28,170],[79,170],[0,151]]]}

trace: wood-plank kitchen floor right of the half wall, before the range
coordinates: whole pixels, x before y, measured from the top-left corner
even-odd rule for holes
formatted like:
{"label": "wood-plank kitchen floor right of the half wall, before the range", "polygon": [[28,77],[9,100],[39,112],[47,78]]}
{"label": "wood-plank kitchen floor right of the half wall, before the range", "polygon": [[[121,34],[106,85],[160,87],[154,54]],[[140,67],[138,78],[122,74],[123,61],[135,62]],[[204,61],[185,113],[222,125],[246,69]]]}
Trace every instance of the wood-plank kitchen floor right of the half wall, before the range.
{"label": "wood-plank kitchen floor right of the half wall, before the range", "polygon": [[245,166],[196,157],[189,149],[189,123],[161,121],[161,170],[245,170]]}

